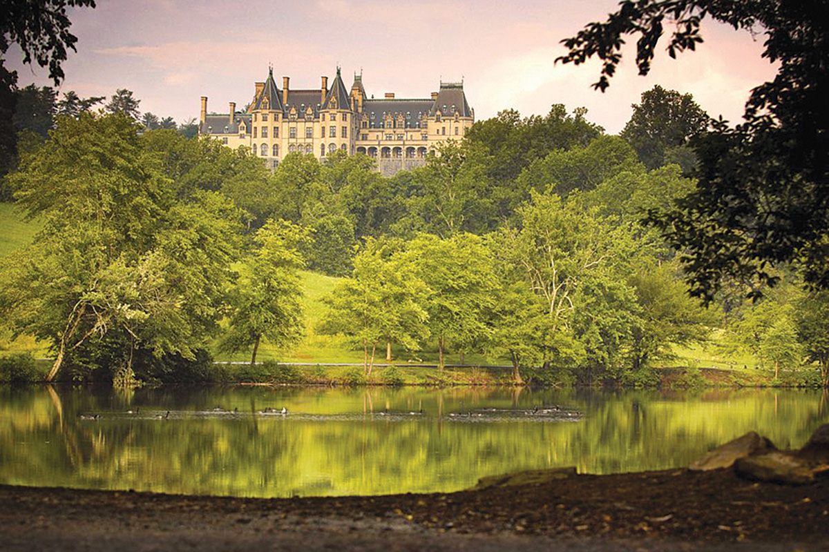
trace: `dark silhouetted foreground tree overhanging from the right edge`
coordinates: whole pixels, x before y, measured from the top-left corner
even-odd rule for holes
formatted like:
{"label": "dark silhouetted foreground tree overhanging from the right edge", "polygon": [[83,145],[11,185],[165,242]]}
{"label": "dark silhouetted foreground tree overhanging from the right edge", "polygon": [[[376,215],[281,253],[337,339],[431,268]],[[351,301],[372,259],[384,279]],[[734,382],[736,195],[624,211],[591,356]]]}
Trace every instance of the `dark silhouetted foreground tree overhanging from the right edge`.
{"label": "dark silhouetted foreground tree overhanging from the right edge", "polygon": [[606,89],[622,60],[624,36],[639,36],[640,74],[651,68],[664,24],[674,31],[668,54],[694,50],[705,17],[754,31],[778,75],[756,87],[744,123],[715,122],[696,142],[700,181],[671,213],[655,217],[681,249],[691,292],[712,300],[724,281],[740,281],[749,295],[778,280],[768,263],[793,262],[811,286],[829,287],[829,96],[827,0],[718,2],[625,0],[606,22],[590,23],[566,39],[559,58],[604,62],[597,89]]}

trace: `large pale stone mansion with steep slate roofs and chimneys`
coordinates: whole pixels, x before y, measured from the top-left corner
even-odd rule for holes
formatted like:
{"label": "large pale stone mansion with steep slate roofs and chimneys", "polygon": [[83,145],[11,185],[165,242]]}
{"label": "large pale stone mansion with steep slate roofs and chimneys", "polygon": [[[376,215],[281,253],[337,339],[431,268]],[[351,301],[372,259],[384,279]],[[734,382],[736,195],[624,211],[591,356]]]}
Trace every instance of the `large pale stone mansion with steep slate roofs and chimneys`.
{"label": "large pale stone mansion with steep slate roofs and chimneys", "polygon": [[228,113],[207,113],[202,96],[199,134],[230,147],[247,146],[270,167],[293,151],[322,158],[343,150],[375,157],[384,174],[393,174],[422,165],[434,146],[463,137],[475,121],[463,83],[441,82],[431,98],[385,93],[375,99],[366,97],[361,74],[355,74],[348,92],[339,67],[330,88],[327,77],[319,89],[291,89],[288,82],[283,77],[282,89],[277,88],[269,70],[244,112],[230,102]]}

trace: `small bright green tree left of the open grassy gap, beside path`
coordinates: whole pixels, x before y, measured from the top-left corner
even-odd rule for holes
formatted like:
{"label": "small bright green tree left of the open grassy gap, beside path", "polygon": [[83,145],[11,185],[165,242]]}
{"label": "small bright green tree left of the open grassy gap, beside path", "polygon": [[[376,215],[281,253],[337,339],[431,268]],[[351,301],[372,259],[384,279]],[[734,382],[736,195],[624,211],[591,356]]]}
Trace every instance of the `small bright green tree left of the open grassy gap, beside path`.
{"label": "small bright green tree left of the open grassy gap, beside path", "polygon": [[223,350],[233,353],[252,346],[251,366],[262,338],[284,348],[303,335],[298,271],[304,264],[299,253],[304,239],[300,228],[284,221],[271,221],[255,234],[258,248],[243,265],[233,292],[230,327],[221,343]]}

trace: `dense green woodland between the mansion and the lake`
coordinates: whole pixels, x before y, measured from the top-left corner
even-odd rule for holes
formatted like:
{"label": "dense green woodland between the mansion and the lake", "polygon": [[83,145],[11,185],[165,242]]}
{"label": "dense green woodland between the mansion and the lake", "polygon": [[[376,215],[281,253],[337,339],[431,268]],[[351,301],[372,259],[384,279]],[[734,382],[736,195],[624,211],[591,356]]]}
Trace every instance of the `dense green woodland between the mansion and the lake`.
{"label": "dense green woodland between the mansion and the lake", "polygon": [[[342,276],[318,331],[375,359],[396,348],[485,354],[516,382],[647,384],[675,345],[717,330],[723,351],[827,382],[829,295],[778,267],[720,282],[705,308],[654,219],[696,190],[711,122],[689,94],[642,94],[619,136],[554,105],[475,123],[422,168],[384,177],[366,156],[289,154],[273,171],[192,122],[119,90],[60,101],[17,92],[17,156],[2,194],[44,224],[2,258],[12,334],[114,382],[164,379],[213,353],[303,333],[298,271]],[[747,300],[753,297],[754,300]],[[211,343],[217,343],[216,348]]]}

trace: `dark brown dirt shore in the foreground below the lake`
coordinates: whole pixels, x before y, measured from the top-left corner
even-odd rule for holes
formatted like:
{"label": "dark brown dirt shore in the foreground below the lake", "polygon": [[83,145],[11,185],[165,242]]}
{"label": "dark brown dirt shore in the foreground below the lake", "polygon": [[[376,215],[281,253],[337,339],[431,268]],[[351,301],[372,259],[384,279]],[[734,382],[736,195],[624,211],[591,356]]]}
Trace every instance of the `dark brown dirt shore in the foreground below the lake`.
{"label": "dark brown dirt shore in the foreground below the lake", "polygon": [[0,486],[0,550],[119,549],[829,550],[829,479],[671,470],[290,499]]}

